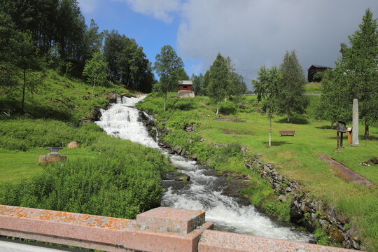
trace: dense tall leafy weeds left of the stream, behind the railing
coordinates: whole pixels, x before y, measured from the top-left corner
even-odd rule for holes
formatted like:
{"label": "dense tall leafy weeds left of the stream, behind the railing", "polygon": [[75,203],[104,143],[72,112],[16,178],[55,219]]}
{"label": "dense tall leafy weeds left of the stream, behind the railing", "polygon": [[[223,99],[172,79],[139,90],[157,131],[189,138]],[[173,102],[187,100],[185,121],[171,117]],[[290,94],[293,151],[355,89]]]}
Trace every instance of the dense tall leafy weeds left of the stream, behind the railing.
{"label": "dense tall leafy weeds left of the stream, behind the railing", "polygon": [[[94,132],[86,130],[82,134]],[[89,157],[43,168],[31,179],[2,184],[0,202],[21,207],[135,218],[158,207],[160,177],[171,169],[156,150],[97,131]],[[22,155],[22,154],[21,154]]]}

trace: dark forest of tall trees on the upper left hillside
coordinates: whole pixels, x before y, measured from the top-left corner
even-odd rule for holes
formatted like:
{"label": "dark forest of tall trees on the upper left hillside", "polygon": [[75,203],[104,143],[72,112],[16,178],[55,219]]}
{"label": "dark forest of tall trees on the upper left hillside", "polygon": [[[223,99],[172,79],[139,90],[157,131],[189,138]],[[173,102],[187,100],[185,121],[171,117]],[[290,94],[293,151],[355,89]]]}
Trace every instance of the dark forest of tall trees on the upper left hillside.
{"label": "dark forest of tall trees on the upper left hillside", "polygon": [[0,0],[0,87],[22,80],[25,92],[38,85],[34,72],[46,67],[92,85],[151,92],[151,62],[133,38],[89,27],[76,0]]}

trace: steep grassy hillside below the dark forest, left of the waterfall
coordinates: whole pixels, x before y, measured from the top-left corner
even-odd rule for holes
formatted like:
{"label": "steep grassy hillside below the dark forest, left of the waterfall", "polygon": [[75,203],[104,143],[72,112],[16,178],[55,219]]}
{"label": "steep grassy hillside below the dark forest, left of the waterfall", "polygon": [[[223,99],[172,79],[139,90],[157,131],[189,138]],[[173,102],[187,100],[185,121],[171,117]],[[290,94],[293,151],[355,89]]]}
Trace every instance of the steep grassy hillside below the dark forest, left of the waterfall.
{"label": "steep grassy hillside below the dark forest, left of the waterfall", "polygon": [[[93,118],[99,108],[104,108],[108,101],[105,99],[109,92],[122,94],[128,90],[109,83],[109,86],[94,87],[83,83],[82,80],[66,78],[57,72],[46,70],[34,73],[38,85],[27,85],[25,98],[25,117],[49,118],[78,123],[85,118]],[[2,111],[10,111],[10,115],[19,113],[22,99],[22,84],[3,88],[0,92],[0,107]],[[3,113],[1,116],[4,117]]]}

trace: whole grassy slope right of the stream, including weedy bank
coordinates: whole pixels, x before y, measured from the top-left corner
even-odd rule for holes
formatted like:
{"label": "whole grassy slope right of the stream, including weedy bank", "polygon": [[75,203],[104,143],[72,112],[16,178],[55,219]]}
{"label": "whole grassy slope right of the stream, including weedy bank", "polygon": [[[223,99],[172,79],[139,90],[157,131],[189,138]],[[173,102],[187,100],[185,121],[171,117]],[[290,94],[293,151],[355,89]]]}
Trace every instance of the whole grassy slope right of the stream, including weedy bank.
{"label": "whole grassy slope right of the stream, including weedy bank", "polygon": [[[312,98],[311,101],[318,99]],[[276,116],[273,123],[273,146],[267,148],[269,122],[265,116],[254,112],[258,109],[254,96],[245,97],[241,101],[248,109],[225,104],[227,109],[223,111],[233,114],[228,116],[230,120],[221,121],[215,120],[217,116],[214,104],[207,97],[177,99],[175,94],[171,94],[166,112],[162,111],[162,102],[162,98],[152,94],[138,104],[139,109],[153,114],[158,127],[167,132],[162,139],[172,146],[186,148],[190,155],[196,155],[198,160],[207,161],[216,169],[233,170],[251,176],[253,186],[243,192],[251,197],[251,202],[261,205],[265,211],[283,220],[288,219],[288,207],[274,202],[276,195],[272,195],[272,189],[260,179],[259,174],[253,174],[244,167],[240,151],[232,151],[237,149],[235,146],[248,149],[246,155],[261,153],[263,162],[273,163],[281,174],[298,181],[311,197],[334,206],[351,223],[353,232],[363,239],[364,245],[370,251],[378,250],[377,186],[365,188],[357,183],[348,183],[318,158],[318,153],[324,153],[378,183],[377,166],[358,165],[377,155],[377,125],[370,130],[373,141],[360,140],[358,147],[344,144],[343,151],[336,151],[335,130],[329,129],[328,122],[305,115],[286,123],[286,118]],[[195,125],[195,132],[185,132],[185,125]],[[280,137],[279,130],[295,130],[296,134],[295,137]],[[234,147],[216,148],[223,144]]]}

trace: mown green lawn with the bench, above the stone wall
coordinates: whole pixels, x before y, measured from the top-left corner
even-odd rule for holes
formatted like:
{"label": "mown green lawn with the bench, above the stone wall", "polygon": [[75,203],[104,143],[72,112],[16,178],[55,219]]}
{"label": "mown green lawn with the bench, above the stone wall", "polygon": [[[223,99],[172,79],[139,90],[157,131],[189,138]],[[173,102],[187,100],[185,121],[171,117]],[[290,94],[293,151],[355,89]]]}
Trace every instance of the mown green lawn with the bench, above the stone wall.
{"label": "mown green lawn with the bench, above the stone wall", "polygon": [[[237,119],[235,115],[231,115],[228,116],[232,118],[229,121],[215,120],[221,115],[216,116],[214,108],[210,110],[200,105],[201,102],[214,106],[205,97],[196,97],[193,100],[193,109],[182,111],[172,108],[173,95],[170,99],[171,109],[165,113],[158,108],[160,98],[147,100],[141,107],[155,113],[155,118],[165,120],[167,127],[174,127],[176,121],[181,125],[195,123],[197,134],[200,138],[206,139],[208,144],[240,144],[248,149],[248,155],[261,153],[263,162],[273,163],[281,174],[298,181],[310,195],[339,210],[349,219],[353,230],[357,230],[358,235],[363,237],[370,251],[378,251],[378,186],[367,188],[357,183],[346,182],[318,157],[319,153],[324,153],[370,181],[378,183],[378,166],[358,165],[377,157],[378,127],[370,127],[370,135],[374,140],[360,139],[360,146],[353,147],[347,144],[344,136],[344,150],[336,151],[336,131],[329,129],[329,122],[314,120],[307,115],[291,118],[291,123],[286,123],[286,118],[276,116],[272,125],[273,146],[268,147],[269,121],[267,116],[254,111],[254,96],[246,97],[242,102],[251,108],[248,113],[239,110],[236,113]],[[295,137],[281,137],[279,130],[295,130]],[[360,136],[363,136],[362,124]],[[242,162],[237,160],[221,165],[218,169],[248,173]]]}

